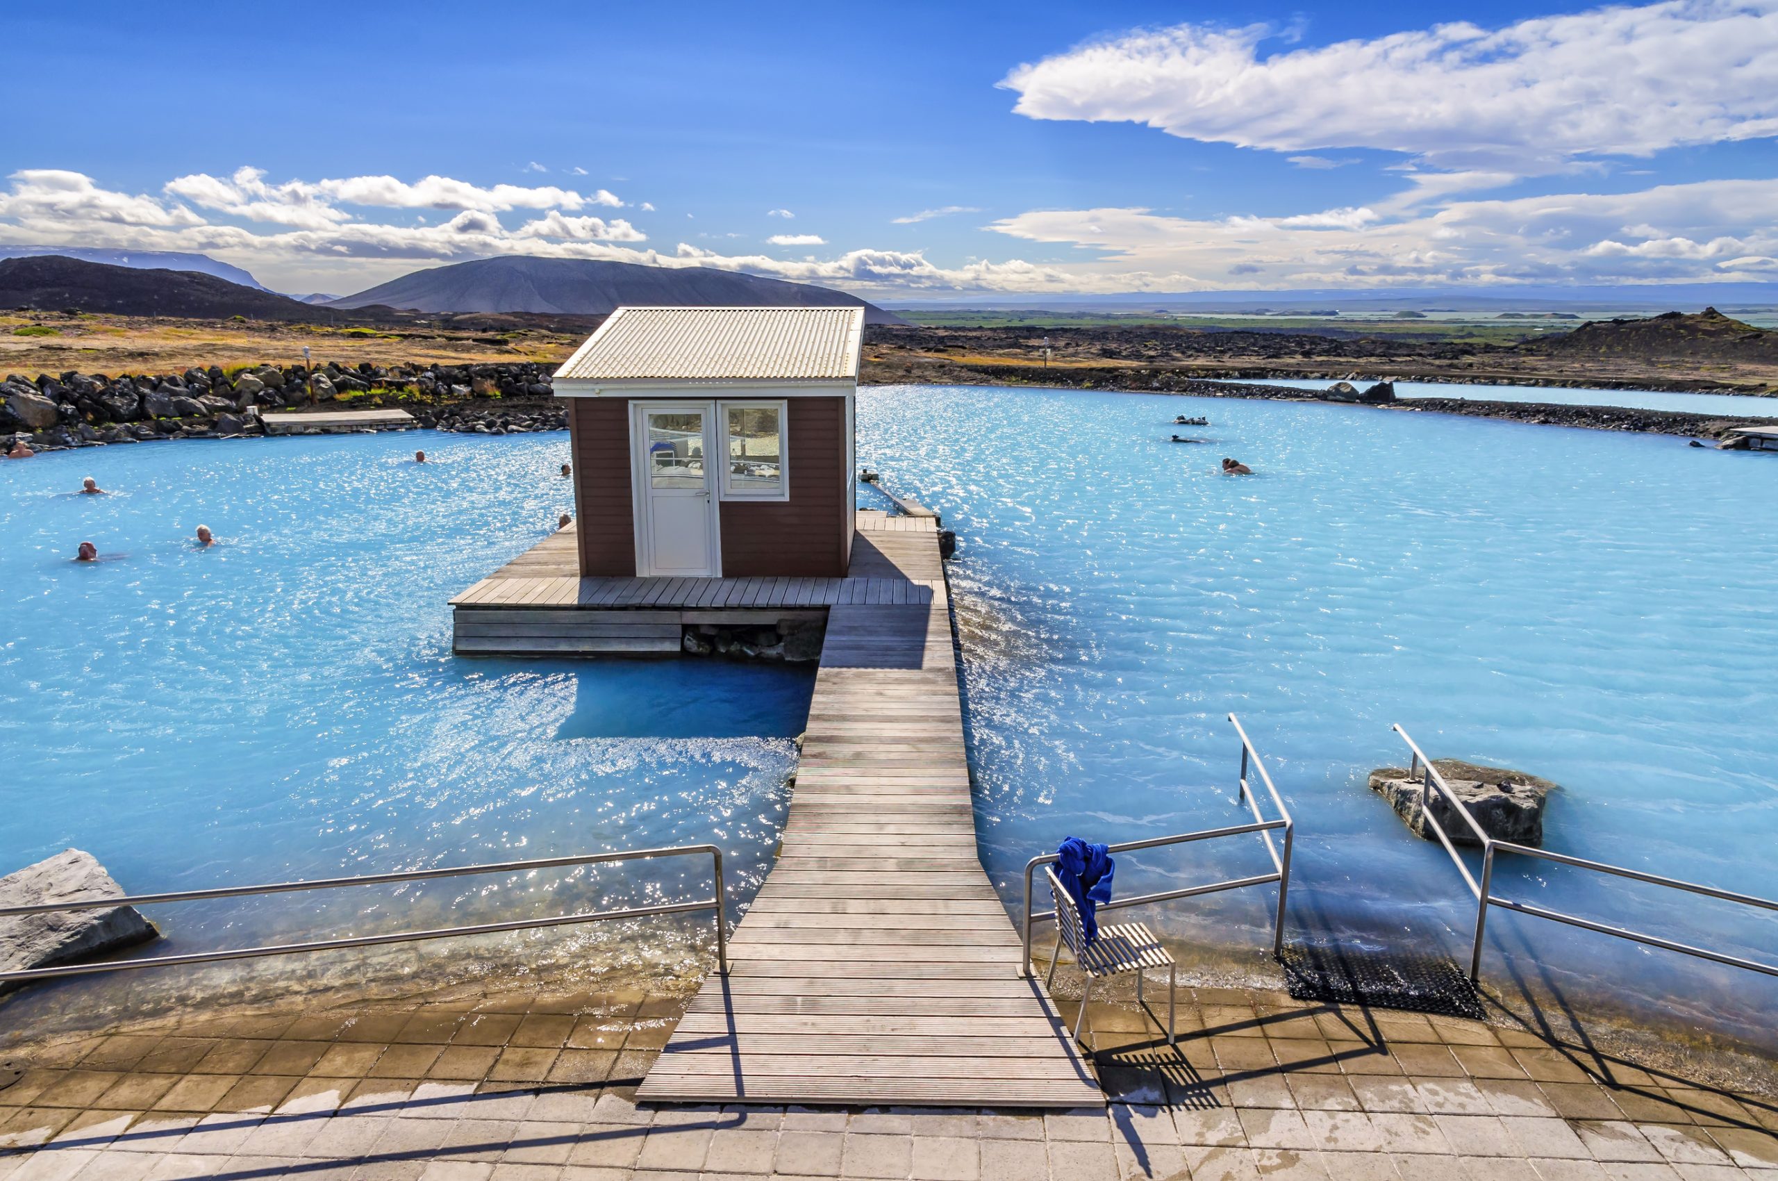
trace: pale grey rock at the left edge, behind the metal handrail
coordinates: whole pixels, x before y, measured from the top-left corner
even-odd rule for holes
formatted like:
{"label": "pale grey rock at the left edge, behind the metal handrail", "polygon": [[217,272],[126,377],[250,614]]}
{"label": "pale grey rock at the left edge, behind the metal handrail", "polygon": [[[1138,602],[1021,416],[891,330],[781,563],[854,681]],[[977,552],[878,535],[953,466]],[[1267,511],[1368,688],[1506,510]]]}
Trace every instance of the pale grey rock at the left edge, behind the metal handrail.
{"label": "pale grey rock at the left edge, behind the metal handrail", "polygon": [[[123,886],[112,880],[92,854],[78,848],[64,848],[46,861],[0,877],[0,907],[121,896]],[[135,907],[0,918],[0,971],[66,964],[156,936],[160,932]]]}

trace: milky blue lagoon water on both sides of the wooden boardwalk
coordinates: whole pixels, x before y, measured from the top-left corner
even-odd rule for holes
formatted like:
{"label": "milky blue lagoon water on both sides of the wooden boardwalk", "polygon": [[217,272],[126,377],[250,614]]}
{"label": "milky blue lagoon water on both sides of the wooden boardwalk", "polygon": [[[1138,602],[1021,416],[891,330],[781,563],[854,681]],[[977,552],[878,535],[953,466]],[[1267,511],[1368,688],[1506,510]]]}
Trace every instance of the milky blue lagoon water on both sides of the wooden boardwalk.
{"label": "milky blue lagoon water on both sides of the wooden boardwalk", "polygon": [[[1175,414],[1207,414],[1209,445],[1165,443]],[[416,445],[434,462],[409,462]],[[450,594],[569,507],[565,448],[421,434],[0,461],[0,868],[76,845],[158,891],[715,840],[749,898],[805,672],[450,653]],[[1218,475],[1221,455],[1255,475]],[[1296,815],[1293,941],[1463,950],[1454,868],[1364,786],[1405,763],[1390,722],[1563,784],[1550,848],[1778,895],[1774,457],[1326,404],[875,388],[859,459],[958,530],[981,852],[1012,909],[1024,859],[1061,836],[1237,822],[1230,710]],[[84,475],[114,494],[71,494]],[[217,548],[192,548],[199,521]],[[73,564],[82,539],[108,560]],[[1252,843],[1131,856],[1118,891],[1264,864]],[[165,952],[701,888],[661,866],[153,916]],[[1778,950],[1771,920],[1646,886],[1502,863],[1497,889]],[[1259,962],[1269,905],[1143,918]],[[645,959],[654,930],[624,937]],[[1504,912],[1490,930],[1497,984],[1771,1035],[1766,980]]]}

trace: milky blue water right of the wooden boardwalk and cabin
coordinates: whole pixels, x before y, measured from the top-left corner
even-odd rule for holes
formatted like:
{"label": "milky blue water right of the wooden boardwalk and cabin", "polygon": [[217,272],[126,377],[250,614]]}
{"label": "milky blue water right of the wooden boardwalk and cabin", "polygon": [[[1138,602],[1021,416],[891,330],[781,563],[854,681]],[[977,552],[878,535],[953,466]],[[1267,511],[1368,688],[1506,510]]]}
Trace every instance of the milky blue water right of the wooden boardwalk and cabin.
{"label": "milky blue water right of the wooden boardwalk and cabin", "polygon": [[[1177,414],[1209,416],[1191,432],[1209,443],[1168,443]],[[861,393],[859,455],[958,532],[981,848],[1013,905],[1026,857],[1063,836],[1236,823],[1229,711],[1298,822],[1291,937],[1467,962],[1454,866],[1366,788],[1406,765],[1392,722],[1433,758],[1559,783],[1549,848],[1778,896],[1778,457],[980,388]],[[1223,455],[1255,475],[1220,475]],[[1266,868],[1250,843],[1125,861],[1120,893]],[[1778,959],[1778,916],[1542,863],[1502,863],[1495,886]],[[1262,946],[1269,905],[1248,891],[1147,918]],[[1607,982],[1771,1037],[1769,978],[1501,911],[1490,927],[1495,984],[1542,960],[1565,989]]]}

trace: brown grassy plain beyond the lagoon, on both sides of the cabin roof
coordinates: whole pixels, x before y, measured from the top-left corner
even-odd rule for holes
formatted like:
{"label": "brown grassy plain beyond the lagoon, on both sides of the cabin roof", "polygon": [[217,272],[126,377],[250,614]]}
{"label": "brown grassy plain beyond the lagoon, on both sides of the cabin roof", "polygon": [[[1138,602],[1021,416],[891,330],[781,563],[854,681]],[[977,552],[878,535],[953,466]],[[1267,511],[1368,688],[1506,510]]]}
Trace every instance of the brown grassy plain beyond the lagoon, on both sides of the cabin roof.
{"label": "brown grassy plain beyond the lagoon, on both sides of the cabin roof", "polygon": [[[92,313],[0,313],[0,374],[164,374],[190,366],[564,361],[596,317],[420,317],[396,324],[270,324]],[[1042,384],[1044,338],[1056,384],[1143,388],[1143,372],[1189,377],[1355,377],[1778,393],[1778,363],[1696,356],[1550,352],[1437,336],[1374,338],[1143,327],[869,327],[866,384]]]}

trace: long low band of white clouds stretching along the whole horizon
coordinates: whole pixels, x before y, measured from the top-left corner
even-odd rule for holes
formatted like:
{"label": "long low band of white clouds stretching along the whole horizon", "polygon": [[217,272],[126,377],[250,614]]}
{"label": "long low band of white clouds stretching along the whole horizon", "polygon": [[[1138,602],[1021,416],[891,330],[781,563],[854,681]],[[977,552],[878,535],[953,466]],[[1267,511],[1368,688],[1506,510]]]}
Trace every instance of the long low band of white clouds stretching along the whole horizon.
{"label": "long low band of white clouds stretching along the whole horizon", "polygon": [[[510,208],[446,205],[444,221],[427,224],[405,205],[391,206],[400,210],[386,215],[393,221],[354,205],[340,219],[340,206],[329,201],[347,181],[267,185],[251,169],[229,180],[185,176],[158,197],[107,190],[80,173],[20,171],[9,190],[0,190],[0,240],[204,253],[284,290],[361,290],[418,265],[496,254],[720,267],[868,297],[1778,279],[1778,180],[1490,201],[1440,190],[1449,181],[1462,192],[1474,178],[1424,174],[1444,178],[1428,185],[1421,176],[1408,174],[1398,197],[1317,212],[1191,219],[1106,206],[1031,210],[989,226],[1006,235],[1008,245],[1037,242],[1045,256],[1063,258],[1044,263],[941,265],[919,251],[885,249],[777,258],[685,242],[654,251],[640,245],[644,235],[628,221],[569,208],[521,219]],[[434,189],[459,187],[466,185],[437,178]],[[517,224],[509,226],[503,215]],[[814,237],[775,235],[772,244],[825,245],[807,240]]]}

